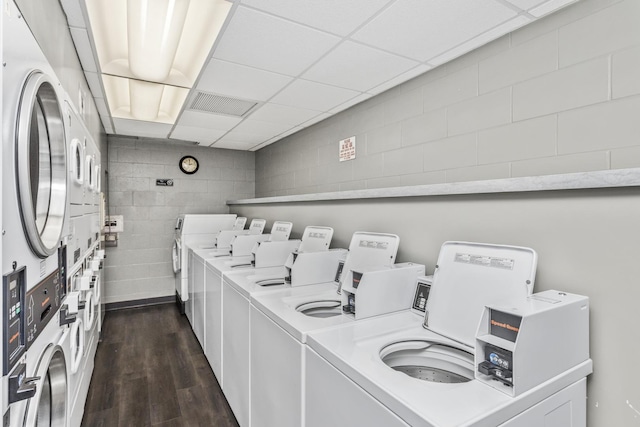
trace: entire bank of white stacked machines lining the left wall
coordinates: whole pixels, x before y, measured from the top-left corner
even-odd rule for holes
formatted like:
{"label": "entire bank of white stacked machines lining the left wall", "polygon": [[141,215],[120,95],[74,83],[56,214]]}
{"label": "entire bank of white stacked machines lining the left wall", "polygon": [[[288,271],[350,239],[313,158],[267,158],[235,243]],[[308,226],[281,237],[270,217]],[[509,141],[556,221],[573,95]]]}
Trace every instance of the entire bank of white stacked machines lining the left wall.
{"label": "entire bank of white stacked machines lining the left wall", "polygon": [[17,6],[3,12],[3,425],[77,426],[100,326],[100,153]]}

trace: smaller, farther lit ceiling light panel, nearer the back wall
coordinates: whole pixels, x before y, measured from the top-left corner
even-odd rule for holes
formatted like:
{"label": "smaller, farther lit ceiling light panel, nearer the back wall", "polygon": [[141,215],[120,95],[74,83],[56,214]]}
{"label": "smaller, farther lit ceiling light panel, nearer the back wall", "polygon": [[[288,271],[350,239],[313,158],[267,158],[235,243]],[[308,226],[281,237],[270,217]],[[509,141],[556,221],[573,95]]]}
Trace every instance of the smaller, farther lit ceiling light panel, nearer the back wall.
{"label": "smaller, farther lit ceiling light panel, nearer the back wall", "polygon": [[[102,83],[111,108],[111,115],[114,118],[121,119],[145,120],[146,113],[152,110],[156,112],[154,121],[174,123],[189,94],[188,89],[180,87],[141,82],[104,74],[102,75]],[[132,93],[142,95],[134,96],[132,99]],[[149,105],[140,106],[136,104],[137,101],[157,101],[157,104],[156,102],[151,102]]]}

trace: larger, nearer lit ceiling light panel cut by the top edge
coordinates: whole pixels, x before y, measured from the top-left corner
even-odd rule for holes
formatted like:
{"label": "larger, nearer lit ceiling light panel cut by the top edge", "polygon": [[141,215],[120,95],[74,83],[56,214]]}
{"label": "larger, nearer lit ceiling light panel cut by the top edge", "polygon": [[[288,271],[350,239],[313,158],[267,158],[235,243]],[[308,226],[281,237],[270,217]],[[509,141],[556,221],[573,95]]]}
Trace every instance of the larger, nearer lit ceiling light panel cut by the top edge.
{"label": "larger, nearer lit ceiling light panel cut by the top edge", "polygon": [[[150,0],[86,4],[103,73],[182,87],[193,86],[231,9],[225,0],[154,0],[153,7],[147,7]],[[152,17],[160,18],[158,23]],[[136,59],[130,61],[130,54]]]}

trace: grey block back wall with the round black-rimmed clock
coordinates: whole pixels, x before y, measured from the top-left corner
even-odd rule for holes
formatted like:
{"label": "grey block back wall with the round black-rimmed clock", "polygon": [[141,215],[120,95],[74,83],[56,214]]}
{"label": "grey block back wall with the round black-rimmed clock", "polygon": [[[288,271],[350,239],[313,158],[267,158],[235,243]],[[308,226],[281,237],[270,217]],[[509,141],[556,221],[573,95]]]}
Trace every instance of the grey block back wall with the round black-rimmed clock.
{"label": "grey block back wall with the round black-rimmed clock", "polygon": [[[200,162],[193,175],[178,168],[187,154]],[[227,200],[254,197],[255,155],[248,151],[109,136],[107,172],[108,211],[123,215],[124,232],[107,248],[106,303],[173,295],[176,217],[228,213]],[[156,186],[158,178],[174,186]]]}

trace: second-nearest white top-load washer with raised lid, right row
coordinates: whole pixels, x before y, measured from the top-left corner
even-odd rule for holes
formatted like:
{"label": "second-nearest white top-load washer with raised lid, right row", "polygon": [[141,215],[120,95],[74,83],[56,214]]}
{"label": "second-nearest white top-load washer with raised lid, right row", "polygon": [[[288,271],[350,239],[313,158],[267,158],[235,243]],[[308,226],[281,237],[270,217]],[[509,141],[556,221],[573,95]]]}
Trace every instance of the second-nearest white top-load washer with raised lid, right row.
{"label": "second-nearest white top-load washer with raised lid, right row", "polygon": [[[413,287],[415,278],[424,275],[424,266],[394,265],[398,245],[399,238],[393,234],[354,233],[344,264],[338,267],[342,274],[333,273],[335,281],[294,286],[295,265],[299,261],[306,263],[304,254],[300,254],[289,271],[291,287],[251,295],[252,426],[301,425],[308,332],[350,323],[360,315],[379,315],[409,307],[411,296],[402,299],[397,295],[404,294],[406,286]],[[360,273],[355,275],[357,290],[352,286],[354,271]],[[345,286],[340,295],[341,284]],[[362,304],[358,306],[359,302]],[[343,306],[349,313],[343,314]],[[225,368],[225,346],[223,351]]]}

